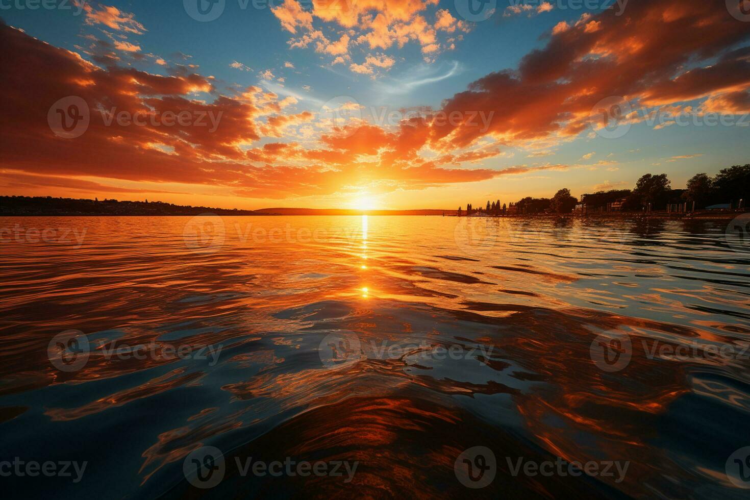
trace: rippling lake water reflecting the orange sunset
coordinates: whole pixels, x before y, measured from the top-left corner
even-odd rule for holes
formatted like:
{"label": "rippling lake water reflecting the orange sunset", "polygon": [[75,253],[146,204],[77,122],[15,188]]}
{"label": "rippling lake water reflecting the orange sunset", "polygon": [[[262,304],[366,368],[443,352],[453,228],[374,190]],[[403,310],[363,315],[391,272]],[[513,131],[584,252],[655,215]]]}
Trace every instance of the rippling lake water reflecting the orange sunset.
{"label": "rippling lake water reflecting the orange sunset", "polygon": [[[3,218],[0,460],[87,465],[78,482],[0,483],[25,498],[747,498],[727,466],[750,446],[750,254],[725,227]],[[186,457],[204,446],[223,481],[196,489],[184,466],[195,481]],[[478,446],[496,471],[469,489],[456,464]],[[250,457],[358,465],[242,475]]]}

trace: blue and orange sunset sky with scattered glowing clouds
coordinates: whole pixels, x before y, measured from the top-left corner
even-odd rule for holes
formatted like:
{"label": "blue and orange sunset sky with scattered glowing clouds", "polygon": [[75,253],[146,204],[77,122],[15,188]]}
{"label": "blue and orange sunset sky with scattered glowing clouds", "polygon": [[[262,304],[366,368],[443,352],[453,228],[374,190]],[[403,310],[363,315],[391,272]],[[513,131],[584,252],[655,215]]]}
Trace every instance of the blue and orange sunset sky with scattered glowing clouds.
{"label": "blue and orange sunset sky with scattered glowing clouds", "polygon": [[0,194],[455,209],[750,163],[747,0],[0,0]]}

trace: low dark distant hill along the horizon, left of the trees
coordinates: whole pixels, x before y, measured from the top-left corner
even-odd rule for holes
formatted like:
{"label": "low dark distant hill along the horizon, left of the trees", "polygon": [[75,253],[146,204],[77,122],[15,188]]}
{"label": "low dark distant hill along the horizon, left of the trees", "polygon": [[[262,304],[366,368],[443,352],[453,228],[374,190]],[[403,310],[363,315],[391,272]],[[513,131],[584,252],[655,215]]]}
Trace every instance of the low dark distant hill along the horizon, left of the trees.
{"label": "low dark distant hill along the horizon, left of the trees", "polygon": [[455,215],[443,210],[320,210],[315,208],[264,208],[237,210],[192,207],[164,202],[120,202],[116,199],[74,199],[52,196],[0,196],[0,216],[97,216],[97,215]]}

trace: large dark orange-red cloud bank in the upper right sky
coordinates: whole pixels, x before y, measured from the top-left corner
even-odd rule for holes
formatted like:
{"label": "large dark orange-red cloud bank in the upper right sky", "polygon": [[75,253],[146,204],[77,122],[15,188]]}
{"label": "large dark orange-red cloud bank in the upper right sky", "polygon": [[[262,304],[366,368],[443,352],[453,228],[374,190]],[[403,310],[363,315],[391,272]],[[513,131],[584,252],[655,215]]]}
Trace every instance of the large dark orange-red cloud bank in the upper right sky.
{"label": "large dark orange-red cloud bank in the upper right sky", "polygon": [[586,13],[550,33],[517,68],[490,73],[446,100],[446,112],[493,111],[487,130],[443,124],[434,140],[451,147],[486,135],[511,145],[569,140],[595,126],[593,107],[611,96],[636,106],[697,97],[723,106],[721,96],[731,95],[727,101],[741,109],[750,103],[737,94],[750,87],[750,48],[730,48],[748,36],[750,23],[700,0],[631,2],[622,16]]}

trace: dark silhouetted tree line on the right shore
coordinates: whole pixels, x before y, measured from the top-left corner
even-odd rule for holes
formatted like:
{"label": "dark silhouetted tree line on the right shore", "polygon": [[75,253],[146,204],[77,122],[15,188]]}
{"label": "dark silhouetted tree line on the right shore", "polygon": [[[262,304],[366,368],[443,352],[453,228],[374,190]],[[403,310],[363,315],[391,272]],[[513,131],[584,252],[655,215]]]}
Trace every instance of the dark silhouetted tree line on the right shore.
{"label": "dark silhouetted tree line on the right shore", "polygon": [[666,210],[667,205],[688,203],[692,208],[694,202],[696,210],[711,205],[727,204],[737,207],[743,200],[747,206],[750,198],[750,163],[747,165],[730,166],[721,169],[711,177],[706,173],[694,175],[685,189],[672,189],[667,174],[645,174],[635,183],[633,189],[598,191],[580,196],[580,200],[571,195],[570,190],[563,188],[552,198],[532,198],[526,196],[518,202],[500,205],[500,200],[487,202],[483,208],[474,208],[471,203],[466,205],[466,211],[458,208],[459,215],[484,213],[487,215],[505,214],[540,214],[552,212],[569,214],[579,203],[588,209],[606,208],[607,205],[621,202],[622,211],[643,211],[649,205],[652,210]]}

